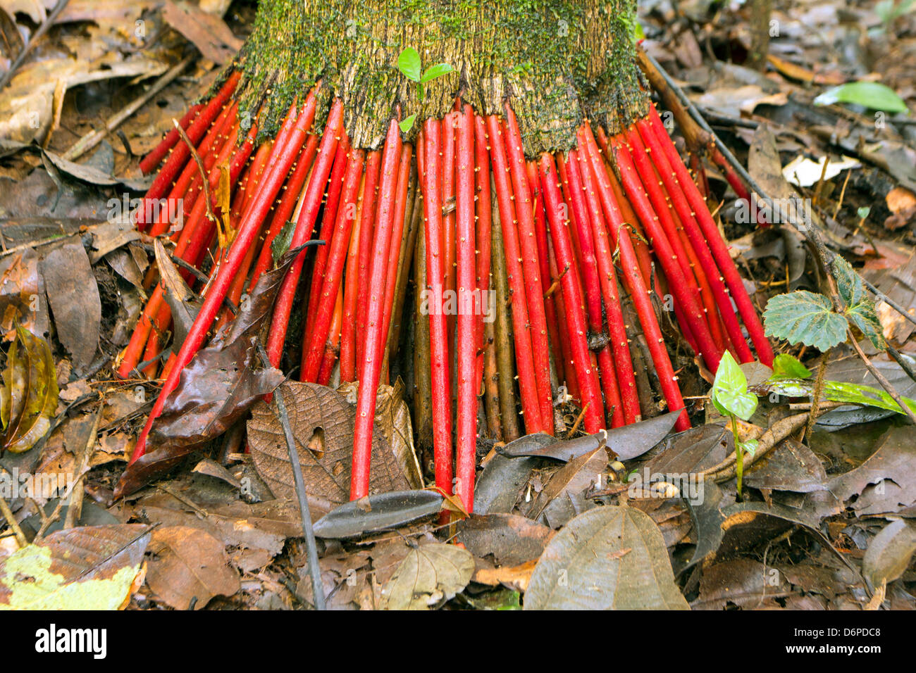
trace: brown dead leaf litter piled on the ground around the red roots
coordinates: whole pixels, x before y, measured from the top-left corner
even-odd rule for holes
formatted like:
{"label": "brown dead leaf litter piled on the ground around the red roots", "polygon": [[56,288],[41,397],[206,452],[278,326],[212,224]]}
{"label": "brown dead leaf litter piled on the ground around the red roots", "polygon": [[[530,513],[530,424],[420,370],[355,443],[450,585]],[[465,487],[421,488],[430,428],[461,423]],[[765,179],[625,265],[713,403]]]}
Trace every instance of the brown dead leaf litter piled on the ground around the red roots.
{"label": "brown dead leaf litter piled on the ground around the red roots", "polygon": [[[9,498],[27,546],[16,549],[8,531],[0,530],[0,604],[67,606],[78,595],[112,608],[309,609],[313,596],[289,461],[276,407],[261,399],[282,376],[258,368],[251,352],[271,303],[267,294],[253,291],[255,309],[247,319],[234,321],[242,329],[224,333],[219,348],[202,353],[196,381],[180,390],[158,429],[161,453],[128,474],[119,488],[136,430],[155,395],[153,382],[114,381],[109,369],[124,345],[125,325],[138,317],[147,254],[155,251],[159,268],[174,272],[167,274],[167,300],[181,318],[177,330],[192,319],[196,295],[170,266],[160,242],[140,240],[129,224],[99,220],[114,190],[141,185],[133,155],[155,144],[171,117],[196,97],[199,81],[215,76],[209,61],[195,66],[189,81],[175,82],[169,96],[159,97],[161,108],[136,114],[124,126],[129,149],[113,139],[88,161],[64,159],[71,139],[62,129],[66,125],[82,134],[93,128],[92,118],[65,101],[58,124],[55,105],[61,92],[47,82],[62,81],[64,91],[71,91],[69,99],[91,90],[92,80],[120,78],[136,85],[171,62],[169,44],[114,63],[105,56],[105,50],[129,51],[132,38],[116,35],[118,22],[133,20],[144,8],[158,11],[153,5],[159,4],[129,5],[115,16],[108,14],[114,4],[71,3],[61,18],[60,44],[75,60],[37,60],[18,73],[13,91],[27,94],[38,110],[38,127],[9,107],[7,92],[0,95],[0,110],[11,113],[4,116],[0,180],[17,188],[0,190],[0,330],[8,372],[0,400],[5,448],[0,487],[23,475],[73,472],[88,446],[90,472],[80,488],[92,500],[83,505],[80,526],[60,529],[66,516],[61,508],[58,525],[39,533],[43,519],[34,505],[27,498]],[[191,40],[212,61],[233,52],[244,28],[189,7],[169,3],[167,15],[181,33],[170,38],[171,47]],[[736,63],[710,63],[699,46],[706,38],[716,39],[708,22],[687,27],[680,17],[670,21],[663,9],[648,8],[641,23],[648,48],[680,73],[688,93],[717,121],[716,131],[740,159],[747,157],[751,174],[774,196],[801,194],[820,201],[814,216],[829,228],[831,244],[887,299],[916,310],[911,126],[895,125],[889,117],[884,136],[869,136],[870,112],[856,108],[880,103],[893,114],[900,109],[894,107],[897,99],[911,101],[904,77],[914,64],[876,61],[896,98],[881,90],[880,100],[862,101],[856,90],[871,82],[854,76],[861,64],[837,65],[824,57],[823,47],[793,36],[791,26],[804,11],[776,10],[787,31],[775,43],[793,49],[778,51],[779,57],[770,53],[767,76]],[[835,12],[815,16],[812,23],[825,36],[846,29]],[[746,18],[725,17],[735,25]],[[74,21],[93,22],[89,40],[69,34]],[[669,30],[678,37],[659,39]],[[911,40],[894,37],[902,39]],[[878,52],[889,49],[880,41],[872,40],[872,46]],[[831,92],[833,87],[840,91]],[[834,104],[815,107],[819,95],[817,103]],[[92,103],[87,109],[105,117],[116,107]],[[45,143],[46,150],[22,151],[16,144],[31,140]],[[795,180],[797,166],[810,170]],[[719,214],[733,251],[740,251],[758,283],[761,306],[774,284],[822,293],[801,240],[779,228],[742,228],[734,222],[733,195],[719,176],[711,172],[709,178],[724,203]],[[799,190],[791,181],[800,183]],[[863,216],[868,207],[871,212]],[[846,294],[855,299],[859,290],[850,286]],[[823,314],[814,317],[829,320]],[[904,358],[916,353],[911,322],[889,304],[878,302],[874,319],[870,314],[854,319],[858,334],[875,342],[879,334]],[[800,350],[791,353],[801,358]],[[913,384],[898,364],[874,348],[868,352],[901,394],[912,396]],[[812,372],[819,366],[811,357],[804,362]],[[685,390],[693,385],[703,396],[702,381],[687,380],[694,375],[683,374]],[[856,358],[832,358],[826,378],[877,385]],[[283,385],[320,538],[322,584],[333,608],[533,609],[583,600],[588,607],[612,608],[863,608],[879,587],[887,605],[916,607],[911,530],[916,482],[909,428],[891,418],[887,408],[836,407],[809,433],[780,442],[747,470],[746,502],[737,502],[734,479],[704,482],[700,502],[691,497],[690,483],[673,478],[700,474],[734,450],[731,433],[713,415],[706,425],[673,435],[673,418],[660,415],[602,437],[524,437],[496,446],[488,456],[476,484],[477,513],[455,524],[457,515],[442,495],[421,490],[429,473],[419,460],[425,447],[418,445],[410,424],[412,382],[397,380],[379,391],[376,481],[369,499],[354,505],[346,505],[354,387]],[[811,392],[808,385],[791,403],[810,401]],[[764,398],[761,406],[752,420],[764,429],[781,412]],[[91,436],[99,409],[101,422]],[[226,430],[243,422],[251,452],[235,445],[224,455]],[[844,433],[829,432],[835,429]],[[488,444],[485,450],[491,448]],[[132,493],[114,500],[115,491]],[[53,516],[60,496],[69,498],[66,483],[40,495],[36,503],[45,516]],[[444,518],[443,510],[449,512]],[[122,523],[101,526],[103,514]],[[157,527],[150,532],[150,526]],[[112,557],[116,562],[93,566],[93,553],[103,552],[104,545],[120,549]],[[74,548],[94,549],[84,557],[85,567],[61,565]],[[578,552],[597,549],[589,562],[563,565]],[[27,596],[3,583],[5,572],[18,572],[24,564],[37,580],[37,591]],[[561,567],[581,572],[571,571],[570,582],[559,585]],[[584,594],[589,597],[583,599]]]}

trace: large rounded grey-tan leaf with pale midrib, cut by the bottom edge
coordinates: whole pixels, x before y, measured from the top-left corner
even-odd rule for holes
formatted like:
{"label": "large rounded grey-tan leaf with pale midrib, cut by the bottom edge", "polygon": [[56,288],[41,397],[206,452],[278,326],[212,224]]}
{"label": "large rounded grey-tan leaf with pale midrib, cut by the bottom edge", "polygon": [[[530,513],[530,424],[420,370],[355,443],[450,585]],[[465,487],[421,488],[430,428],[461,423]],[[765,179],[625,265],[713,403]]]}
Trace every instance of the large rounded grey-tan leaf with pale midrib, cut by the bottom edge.
{"label": "large rounded grey-tan leaf with pale midrib, cut by the bottom edge", "polygon": [[649,515],[608,505],[576,516],[544,549],[526,610],[689,610]]}

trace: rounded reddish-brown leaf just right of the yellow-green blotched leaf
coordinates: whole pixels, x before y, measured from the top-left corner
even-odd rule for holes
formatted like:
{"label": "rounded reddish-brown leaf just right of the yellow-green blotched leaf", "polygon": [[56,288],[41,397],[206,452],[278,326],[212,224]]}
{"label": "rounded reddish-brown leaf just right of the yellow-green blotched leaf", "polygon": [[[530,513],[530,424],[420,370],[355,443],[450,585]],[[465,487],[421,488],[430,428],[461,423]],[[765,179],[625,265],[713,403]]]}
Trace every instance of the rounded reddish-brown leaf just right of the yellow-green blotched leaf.
{"label": "rounded reddish-brown leaf just right of the yellow-green blotched leaf", "polygon": [[188,610],[194,598],[200,610],[213,596],[232,596],[241,588],[223,542],[198,528],[157,528],[149,550],[149,588],[176,610]]}

